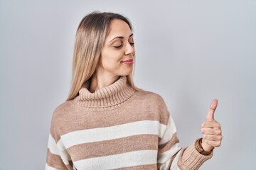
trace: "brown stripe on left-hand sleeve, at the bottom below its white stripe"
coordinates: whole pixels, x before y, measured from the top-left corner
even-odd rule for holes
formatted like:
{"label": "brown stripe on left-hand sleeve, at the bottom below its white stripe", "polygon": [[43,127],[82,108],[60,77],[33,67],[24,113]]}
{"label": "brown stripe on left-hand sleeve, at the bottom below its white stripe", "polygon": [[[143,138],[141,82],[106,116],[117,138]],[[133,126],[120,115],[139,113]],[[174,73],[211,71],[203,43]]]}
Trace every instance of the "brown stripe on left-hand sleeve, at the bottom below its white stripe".
{"label": "brown stripe on left-hand sleeve, at the bottom below its white stripe", "polygon": [[60,156],[50,153],[49,149],[47,149],[46,163],[48,164],[48,166],[52,166],[55,169],[68,169],[68,167],[63,163]]}

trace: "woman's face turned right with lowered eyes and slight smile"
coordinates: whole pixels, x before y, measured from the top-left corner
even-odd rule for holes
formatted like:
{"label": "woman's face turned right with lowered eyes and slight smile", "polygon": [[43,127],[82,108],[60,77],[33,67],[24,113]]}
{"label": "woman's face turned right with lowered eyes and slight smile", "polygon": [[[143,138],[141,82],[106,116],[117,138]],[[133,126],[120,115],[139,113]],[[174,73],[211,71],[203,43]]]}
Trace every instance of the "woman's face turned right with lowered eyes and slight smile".
{"label": "woman's face turned right with lowered eyes and slight smile", "polygon": [[97,74],[110,77],[127,76],[134,67],[134,40],[132,30],[122,20],[110,22],[110,33],[102,49]]}

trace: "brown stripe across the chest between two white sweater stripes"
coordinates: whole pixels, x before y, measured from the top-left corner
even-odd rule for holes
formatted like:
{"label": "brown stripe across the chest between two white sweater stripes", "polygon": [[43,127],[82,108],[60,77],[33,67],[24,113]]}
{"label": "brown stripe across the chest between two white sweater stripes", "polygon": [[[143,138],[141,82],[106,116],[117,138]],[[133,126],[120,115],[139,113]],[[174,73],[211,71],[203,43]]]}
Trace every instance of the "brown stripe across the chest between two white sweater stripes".
{"label": "brown stripe across the chest between two white sweater stripes", "polygon": [[104,157],[113,154],[122,154],[137,150],[157,150],[157,135],[134,135],[122,137],[116,140],[106,140],[101,142],[91,142],[75,145],[68,148],[68,153],[73,162],[92,157]]}

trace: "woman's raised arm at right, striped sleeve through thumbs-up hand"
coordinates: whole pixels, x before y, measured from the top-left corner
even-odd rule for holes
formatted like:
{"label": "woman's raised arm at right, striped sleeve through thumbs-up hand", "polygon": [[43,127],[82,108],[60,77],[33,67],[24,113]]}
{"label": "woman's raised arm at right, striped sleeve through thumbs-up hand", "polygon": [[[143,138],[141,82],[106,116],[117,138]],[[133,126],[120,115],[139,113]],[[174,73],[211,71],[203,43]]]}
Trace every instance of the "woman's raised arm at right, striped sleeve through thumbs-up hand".
{"label": "woman's raised arm at right, striped sleeve through thumbs-up hand", "polygon": [[[196,140],[193,142],[193,145],[186,148],[178,149],[180,147],[176,137],[176,128],[171,116],[169,117],[166,132],[164,132],[159,143],[159,146],[162,146],[159,147],[159,157],[166,157],[164,162],[159,162],[160,169],[198,169],[203,162],[213,157],[213,149],[219,147],[222,140],[220,123],[214,120],[214,112],[217,105],[218,101],[213,100],[206,117],[206,122],[202,124],[203,140]],[[167,150],[169,152],[171,150],[177,152],[167,155],[161,152],[161,149],[164,152],[167,152]]]}

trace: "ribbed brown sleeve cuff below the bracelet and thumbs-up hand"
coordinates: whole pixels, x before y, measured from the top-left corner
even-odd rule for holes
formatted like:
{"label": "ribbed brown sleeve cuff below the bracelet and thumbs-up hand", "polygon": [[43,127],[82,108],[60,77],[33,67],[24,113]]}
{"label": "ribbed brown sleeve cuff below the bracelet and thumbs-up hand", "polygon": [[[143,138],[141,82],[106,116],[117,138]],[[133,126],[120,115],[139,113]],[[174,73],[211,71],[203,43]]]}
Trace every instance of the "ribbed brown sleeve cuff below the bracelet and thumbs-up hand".
{"label": "ribbed brown sleeve cuff below the bracelet and thumbs-up hand", "polygon": [[183,148],[178,158],[178,167],[180,169],[198,169],[203,162],[213,157],[213,151],[208,155],[203,155],[198,152],[195,147],[196,141],[193,145]]}

